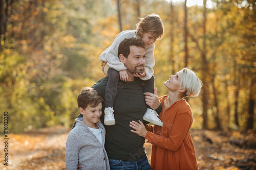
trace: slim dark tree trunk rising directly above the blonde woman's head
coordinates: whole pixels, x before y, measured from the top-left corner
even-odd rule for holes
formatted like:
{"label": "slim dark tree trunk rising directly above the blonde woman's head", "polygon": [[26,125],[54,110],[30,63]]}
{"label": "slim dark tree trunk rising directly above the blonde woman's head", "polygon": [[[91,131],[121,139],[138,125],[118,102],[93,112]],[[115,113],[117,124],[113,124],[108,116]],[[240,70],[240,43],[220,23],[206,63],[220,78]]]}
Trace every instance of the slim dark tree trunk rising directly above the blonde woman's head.
{"label": "slim dark tree trunk rising directly above the blonde woman's head", "polygon": [[185,52],[185,56],[184,56],[184,66],[187,67],[187,65],[188,65],[188,48],[187,48],[187,0],[185,0],[185,3],[184,3],[184,42],[185,42],[185,46],[184,46],[184,52]]}

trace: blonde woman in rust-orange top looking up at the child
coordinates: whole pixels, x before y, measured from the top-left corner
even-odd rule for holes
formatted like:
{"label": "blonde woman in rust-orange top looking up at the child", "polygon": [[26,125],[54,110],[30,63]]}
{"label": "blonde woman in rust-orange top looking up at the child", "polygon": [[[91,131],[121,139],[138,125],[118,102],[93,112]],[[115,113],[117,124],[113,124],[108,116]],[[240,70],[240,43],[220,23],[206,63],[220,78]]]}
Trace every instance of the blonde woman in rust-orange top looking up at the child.
{"label": "blonde woman in rust-orange top looking up at the child", "polygon": [[[152,169],[198,169],[190,128],[193,115],[189,104],[184,100],[187,96],[198,96],[202,82],[195,72],[183,68],[172,75],[164,83],[168,95],[160,97],[162,111],[159,114],[163,127],[146,125],[132,121],[132,132],[148,139],[152,143]],[[157,94],[156,94],[157,95]],[[145,100],[156,96],[146,93]]]}

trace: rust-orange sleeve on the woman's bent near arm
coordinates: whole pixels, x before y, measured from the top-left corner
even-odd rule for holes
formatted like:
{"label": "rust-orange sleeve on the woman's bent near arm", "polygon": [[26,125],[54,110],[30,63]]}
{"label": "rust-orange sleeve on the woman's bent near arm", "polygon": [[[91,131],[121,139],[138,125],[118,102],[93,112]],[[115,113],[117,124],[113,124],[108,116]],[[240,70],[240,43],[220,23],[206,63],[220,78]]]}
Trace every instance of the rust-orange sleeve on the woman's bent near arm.
{"label": "rust-orange sleeve on the woman's bent near arm", "polygon": [[168,137],[148,131],[145,138],[152,141],[158,147],[175,152],[179,149],[186,136],[190,121],[191,117],[188,113],[181,113],[175,118],[173,127],[167,127]]}

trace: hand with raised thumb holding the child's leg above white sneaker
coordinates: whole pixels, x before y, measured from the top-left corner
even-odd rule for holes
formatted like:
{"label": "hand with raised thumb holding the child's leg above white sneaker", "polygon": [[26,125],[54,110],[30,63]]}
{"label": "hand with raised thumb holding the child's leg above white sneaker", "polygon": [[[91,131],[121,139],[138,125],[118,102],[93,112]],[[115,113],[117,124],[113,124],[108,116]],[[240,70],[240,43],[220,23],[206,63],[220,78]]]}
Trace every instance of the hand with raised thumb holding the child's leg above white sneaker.
{"label": "hand with raised thumb holding the child's leg above white sneaker", "polygon": [[157,109],[160,106],[160,100],[157,95],[157,88],[154,89],[154,94],[150,92],[145,92],[145,102],[153,110]]}

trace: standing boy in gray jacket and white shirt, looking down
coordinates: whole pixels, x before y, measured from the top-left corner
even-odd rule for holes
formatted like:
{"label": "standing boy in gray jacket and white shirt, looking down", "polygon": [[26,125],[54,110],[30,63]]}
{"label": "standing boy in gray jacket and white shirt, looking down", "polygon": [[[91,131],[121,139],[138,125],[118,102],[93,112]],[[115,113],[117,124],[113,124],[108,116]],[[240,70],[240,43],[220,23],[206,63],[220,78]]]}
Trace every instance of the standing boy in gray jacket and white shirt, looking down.
{"label": "standing boy in gray jacket and white shirt, looking down", "polygon": [[76,118],[76,126],[66,141],[66,168],[110,169],[106,154],[105,128],[101,116],[102,99],[98,92],[90,87],[83,87],[77,98],[78,108],[83,117]]}

